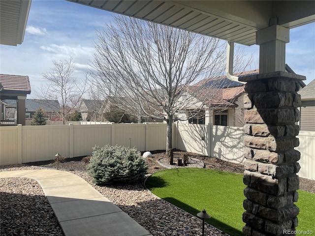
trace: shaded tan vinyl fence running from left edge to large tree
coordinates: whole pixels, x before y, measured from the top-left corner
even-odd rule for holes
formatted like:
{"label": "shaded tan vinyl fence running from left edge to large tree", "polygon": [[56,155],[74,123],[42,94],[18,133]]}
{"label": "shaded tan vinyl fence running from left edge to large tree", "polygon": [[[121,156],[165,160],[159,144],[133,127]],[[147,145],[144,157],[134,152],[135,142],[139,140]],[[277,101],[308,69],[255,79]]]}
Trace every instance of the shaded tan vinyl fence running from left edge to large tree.
{"label": "shaded tan vinyl fence running from left edge to large tree", "polygon": [[0,165],[91,155],[95,146],[165,149],[166,124],[34,125],[0,127]]}

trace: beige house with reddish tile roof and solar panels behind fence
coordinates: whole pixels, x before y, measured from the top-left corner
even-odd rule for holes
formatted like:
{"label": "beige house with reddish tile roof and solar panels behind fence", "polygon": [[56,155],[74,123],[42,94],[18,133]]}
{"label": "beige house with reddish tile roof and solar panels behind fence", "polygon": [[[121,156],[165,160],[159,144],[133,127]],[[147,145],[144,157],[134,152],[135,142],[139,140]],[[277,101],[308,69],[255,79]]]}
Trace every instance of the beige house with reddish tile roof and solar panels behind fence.
{"label": "beige house with reddish tile roof and solar panels behind fence", "polygon": [[[285,70],[294,71],[286,64]],[[235,74],[238,77],[258,74],[259,70]],[[305,84],[299,81],[303,88]],[[187,94],[194,99],[182,109],[177,117],[182,122],[194,124],[214,124],[223,126],[244,126],[244,90],[245,85],[231,81],[226,76],[204,79],[187,88]],[[197,92],[196,92],[197,91]]]}

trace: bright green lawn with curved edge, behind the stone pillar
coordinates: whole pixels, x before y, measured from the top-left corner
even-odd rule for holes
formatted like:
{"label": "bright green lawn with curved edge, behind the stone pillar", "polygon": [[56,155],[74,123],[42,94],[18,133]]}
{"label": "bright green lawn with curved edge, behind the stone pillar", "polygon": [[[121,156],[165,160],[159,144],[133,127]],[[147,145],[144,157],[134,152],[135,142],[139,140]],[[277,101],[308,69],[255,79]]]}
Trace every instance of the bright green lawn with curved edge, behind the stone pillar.
{"label": "bright green lawn with curved edge, behind the stone pillar", "polygon": [[[210,169],[179,168],[160,171],[146,181],[158,197],[192,215],[206,209],[209,224],[231,236],[243,236],[243,176]],[[315,194],[299,190],[297,230],[315,230]]]}

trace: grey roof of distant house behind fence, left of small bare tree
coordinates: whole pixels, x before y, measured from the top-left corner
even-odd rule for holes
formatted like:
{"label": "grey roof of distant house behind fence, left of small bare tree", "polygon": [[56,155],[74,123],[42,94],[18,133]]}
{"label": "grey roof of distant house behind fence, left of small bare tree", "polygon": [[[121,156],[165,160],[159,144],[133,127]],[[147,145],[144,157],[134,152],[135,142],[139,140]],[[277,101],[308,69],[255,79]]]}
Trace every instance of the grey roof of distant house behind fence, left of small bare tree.
{"label": "grey roof of distant house behind fence, left of small bare tree", "polygon": [[[5,100],[10,107],[16,107],[16,100]],[[45,112],[58,112],[60,110],[60,104],[58,100],[45,100],[45,99],[26,99],[25,108],[29,112],[35,112],[39,108],[42,108]]]}

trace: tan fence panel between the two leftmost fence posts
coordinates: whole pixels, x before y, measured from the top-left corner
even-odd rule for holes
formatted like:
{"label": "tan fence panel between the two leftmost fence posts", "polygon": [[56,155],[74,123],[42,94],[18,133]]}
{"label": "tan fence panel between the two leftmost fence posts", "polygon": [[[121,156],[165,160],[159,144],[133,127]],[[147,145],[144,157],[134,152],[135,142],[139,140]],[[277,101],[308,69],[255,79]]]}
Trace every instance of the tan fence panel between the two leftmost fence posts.
{"label": "tan fence panel between the two leftmost fence posts", "polygon": [[69,126],[22,126],[22,144],[22,163],[69,156]]}

